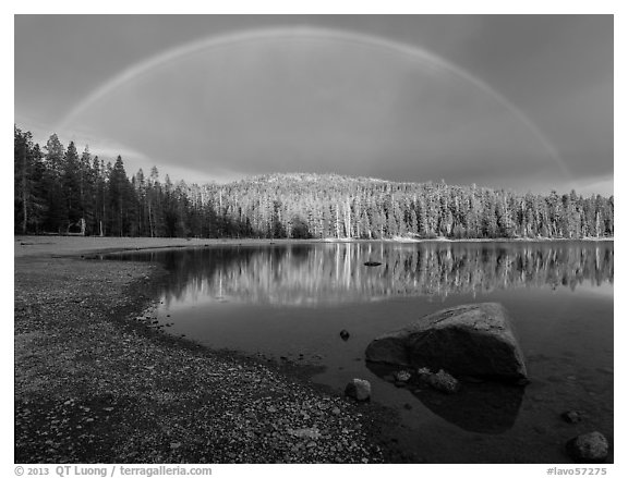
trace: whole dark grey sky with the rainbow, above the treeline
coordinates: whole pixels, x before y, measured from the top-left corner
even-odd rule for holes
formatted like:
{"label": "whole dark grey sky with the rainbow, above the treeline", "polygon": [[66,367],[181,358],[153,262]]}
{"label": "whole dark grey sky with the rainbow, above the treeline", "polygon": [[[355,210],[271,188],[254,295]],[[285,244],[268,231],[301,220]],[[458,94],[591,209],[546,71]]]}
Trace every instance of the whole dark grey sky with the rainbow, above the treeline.
{"label": "whole dark grey sky with the rainbow, above the treeline", "polygon": [[15,122],[188,182],[613,193],[611,15],[17,15]]}

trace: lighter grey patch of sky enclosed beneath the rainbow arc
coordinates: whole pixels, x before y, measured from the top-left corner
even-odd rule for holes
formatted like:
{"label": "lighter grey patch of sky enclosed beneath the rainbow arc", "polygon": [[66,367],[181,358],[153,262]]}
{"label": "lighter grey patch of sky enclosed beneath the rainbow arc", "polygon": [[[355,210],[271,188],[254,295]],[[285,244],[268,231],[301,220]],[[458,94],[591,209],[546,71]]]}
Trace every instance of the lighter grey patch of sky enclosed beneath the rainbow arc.
{"label": "lighter grey patch of sky enclosed beneath the rainbow arc", "polygon": [[88,106],[69,127],[209,177],[311,171],[459,183],[485,171],[508,186],[509,175],[558,169],[531,124],[473,81],[334,38],[195,51]]}

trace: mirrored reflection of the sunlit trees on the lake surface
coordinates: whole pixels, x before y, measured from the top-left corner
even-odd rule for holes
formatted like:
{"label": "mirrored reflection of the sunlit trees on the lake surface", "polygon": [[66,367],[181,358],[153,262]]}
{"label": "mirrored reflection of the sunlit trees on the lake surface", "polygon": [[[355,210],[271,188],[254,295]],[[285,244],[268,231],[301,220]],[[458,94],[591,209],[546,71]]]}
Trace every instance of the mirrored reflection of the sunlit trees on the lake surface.
{"label": "mirrored reflection of the sunlit trees on the lake surface", "polygon": [[[354,243],[124,255],[171,271],[166,299],[316,305],[613,282],[607,243]],[[119,256],[118,256],[119,257]],[[366,267],[366,261],[382,262]]]}

